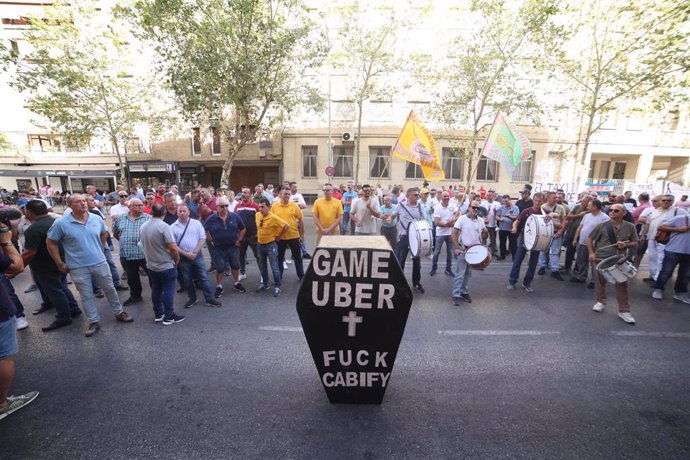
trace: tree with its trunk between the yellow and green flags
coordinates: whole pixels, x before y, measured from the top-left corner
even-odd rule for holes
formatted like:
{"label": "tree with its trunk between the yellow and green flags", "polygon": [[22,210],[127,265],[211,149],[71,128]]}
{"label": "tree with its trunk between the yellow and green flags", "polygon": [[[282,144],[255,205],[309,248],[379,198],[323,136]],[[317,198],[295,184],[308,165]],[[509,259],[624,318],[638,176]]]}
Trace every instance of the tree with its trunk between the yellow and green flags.
{"label": "tree with its trunk between the yellow and green flags", "polygon": [[[435,118],[448,132],[469,128],[469,138],[454,136],[467,161],[467,185],[477,173],[476,148],[482,130],[496,111],[537,119],[536,96],[542,44],[560,41],[554,18],[557,0],[525,0],[517,8],[503,0],[475,0],[468,19],[471,36],[454,39],[451,55],[437,78]],[[428,77],[427,77],[428,78]]]}

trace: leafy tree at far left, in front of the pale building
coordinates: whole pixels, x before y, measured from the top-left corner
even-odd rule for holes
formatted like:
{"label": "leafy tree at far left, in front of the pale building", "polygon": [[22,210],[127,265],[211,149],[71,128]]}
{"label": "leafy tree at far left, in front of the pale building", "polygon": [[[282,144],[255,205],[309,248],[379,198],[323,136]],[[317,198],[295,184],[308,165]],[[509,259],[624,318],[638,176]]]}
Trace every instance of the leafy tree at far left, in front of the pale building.
{"label": "leafy tree at far left, in front of the pale building", "polygon": [[26,94],[28,108],[66,143],[107,138],[126,183],[122,148],[158,117],[152,100],[159,97],[155,77],[134,74],[129,57],[135,49],[122,30],[90,1],[56,3],[31,19],[24,37],[29,52],[4,48],[0,62],[12,72],[10,84]]}

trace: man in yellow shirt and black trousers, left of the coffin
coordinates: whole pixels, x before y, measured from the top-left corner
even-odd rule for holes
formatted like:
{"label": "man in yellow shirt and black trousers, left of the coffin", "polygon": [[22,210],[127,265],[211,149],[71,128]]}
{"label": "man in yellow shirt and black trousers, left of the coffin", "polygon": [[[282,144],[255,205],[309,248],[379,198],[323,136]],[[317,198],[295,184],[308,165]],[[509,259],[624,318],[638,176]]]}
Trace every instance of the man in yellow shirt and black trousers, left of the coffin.
{"label": "man in yellow shirt and black trousers, left of the coffin", "polygon": [[280,276],[283,276],[285,250],[289,246],[290,252],[292,253],[292,260],[295,262],[297,278],[301,280],[304,276],[302,250],[300,248],[300,244],[304,241],[304,216],[299,206],[290,199],[289,188],[283,187],[279,196],[280,200],[273,203],[271,212],[283,219],[290,226],[287,233],[285,233],[283,238],[278,242],[278,265],[280,268]]}

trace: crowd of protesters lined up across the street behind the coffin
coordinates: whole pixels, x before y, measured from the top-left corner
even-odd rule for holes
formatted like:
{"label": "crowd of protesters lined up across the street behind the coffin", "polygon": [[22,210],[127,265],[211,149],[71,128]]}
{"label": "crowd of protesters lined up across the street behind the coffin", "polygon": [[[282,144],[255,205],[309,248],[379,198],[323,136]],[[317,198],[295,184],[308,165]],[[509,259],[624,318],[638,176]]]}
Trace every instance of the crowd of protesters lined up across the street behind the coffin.
{"label": "crowd of protesters lined up across the street behind the coffin", "polygon": [[[475,191],[463,186],[412,187],[403,193],[399,186],[384,189],[353,182],[339,187],[327,183],[310,211],[317,245],[326,235],[380,234],[403,269],[411,256],[412,286],[420,294],[425,292],[421,258],[431,257],[429,277],[436,276],[439,264],[444,264],[444,274],[453,278],[450,294],[455,305],[472,302],[469,284],[473,270],[483,269],[492,258],[502,261],[510,257],[508,290],[516,289],[527,258],[520,284],[526,292],[534,292],[535,275],[549,271],[554,282],[563,282],[569,275],[571,282],[595,290],[592,308],[602,312],[607,304],[607,278],[597,264],[619,256],[618,263],[628,261],[639,267],[645,253],[649,276],[644,280],[653,288],[651,297],[663,299],[665,285],[678,267],[673,297],[690,304],[687,196],[674,203],[672,195],[650,199],[642,193],[634,199],[626,192],[619,196],[610,193],[604,201],[595,192],[583,192],[567,202],[562,190],[533,194],[529,185],[520,195],[513,200],[492,189]],[[24,266],[30,268],[34,283],[25,292],[35,290],[41,296],[40,307],[33,313],[55,312],[55,319],[42,330],[68,326],[85,313],[85,335],[92,337],[101,327],[95,299],[106,298],[115,320],[131,323],[133,318],[125,307],[144,301],[142,279],[148,279],[151,288],[153,320],[170,326],[185,320],[174,308],[176,291],[186,294],[185,308],[198,302],[199,290],[206,305],[222,306],[227,278],[237,295],[245,293],[249,249],[259,268],[255,292],[272,291],[275,297],[282,295],[282,280],[290,265],[301,280],[305,260],[311,258],[305,243],[307,202],[295,182],[265,188],[263,184],[242,186],[237,194],[227,187],[197,187],[184,195],[176,185],[163,183],[146,190],[118,185],[107,195],[88,185],[84,194],[67,198],[62,215],[52,213],[53,204],[40,196],[23,196],[16,206],[20,218],[0,223],[2,375],[10,374],[9,363],[16,353],[16,337],[12,340],[10,335],[28,326],[11,282]],[[525,244],[527,221],[535,215],[553,227],[546,249],[530,249]],[[431,233],[427,253],[415,246],[418,241],[412,234],[420,222]],[[445,261],[441,260],[444,245]],[[477,246],[486,248],[488,263],[477,265],[467,259]],[[618,316],[634,324],[627,281],[616,283],[615,291]],[[120,300],[119,292],[127,292],[127,298]],[[10,400],[8,388],[9,384],[0,382],[0,418],[13,410],[13,404],[24,404],[36,396]]]}

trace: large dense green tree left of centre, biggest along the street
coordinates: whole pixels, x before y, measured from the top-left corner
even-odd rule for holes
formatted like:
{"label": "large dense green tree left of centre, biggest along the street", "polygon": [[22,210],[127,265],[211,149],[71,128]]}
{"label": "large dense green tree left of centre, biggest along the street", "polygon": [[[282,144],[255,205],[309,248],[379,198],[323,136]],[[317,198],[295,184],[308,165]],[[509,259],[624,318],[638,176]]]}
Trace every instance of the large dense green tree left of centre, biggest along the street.
{"label": "large dense green tree left of centre, biggest along the street", "polygon": [[139,0],[125,13],[151,41],[190,121],[223,130],[221,182],[257,132],[322,100],[304,78],[325,55],[296,0]]}

